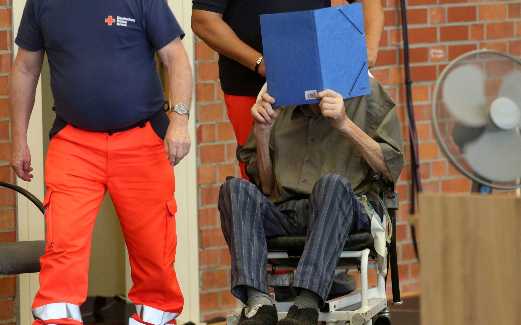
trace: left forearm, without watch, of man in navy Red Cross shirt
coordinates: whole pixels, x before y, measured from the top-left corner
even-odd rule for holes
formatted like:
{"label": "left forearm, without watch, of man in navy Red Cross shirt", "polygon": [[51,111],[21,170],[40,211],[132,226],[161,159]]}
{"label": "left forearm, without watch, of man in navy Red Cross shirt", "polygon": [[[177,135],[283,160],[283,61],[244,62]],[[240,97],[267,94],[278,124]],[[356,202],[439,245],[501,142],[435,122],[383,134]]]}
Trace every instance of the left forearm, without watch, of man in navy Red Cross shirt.
{"label": "left forearm, without watch, of man in navy Red Cross shirt", "polygon": [[11,110],[11,134],[13,141],[27,141],[27,128],[34,106],[39,75],[23,71],[19,64],[13,65],[9,86],[9,108]]}

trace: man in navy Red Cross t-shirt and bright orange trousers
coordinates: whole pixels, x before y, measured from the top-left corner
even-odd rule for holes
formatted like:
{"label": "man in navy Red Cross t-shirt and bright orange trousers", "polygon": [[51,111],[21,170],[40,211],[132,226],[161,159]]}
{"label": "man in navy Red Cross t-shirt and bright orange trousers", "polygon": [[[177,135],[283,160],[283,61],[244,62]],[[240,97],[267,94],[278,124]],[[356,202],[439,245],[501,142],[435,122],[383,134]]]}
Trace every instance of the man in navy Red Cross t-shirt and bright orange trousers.
{"label": "man in navy Red Cross t-shirt and bright orange trousers", "polygon": [[[192,96],[183,36],[165,0],[27,1],[9,94],[10,165],[21,179],[33,177],[27,129],[45,53],[56,112],[35,325],[82,324],[92,228],[107,190],[132,267],[129,324],[175,323],[181,313],[173,165],[190,149]],[[170,116],[156,51],[168,70]]]}

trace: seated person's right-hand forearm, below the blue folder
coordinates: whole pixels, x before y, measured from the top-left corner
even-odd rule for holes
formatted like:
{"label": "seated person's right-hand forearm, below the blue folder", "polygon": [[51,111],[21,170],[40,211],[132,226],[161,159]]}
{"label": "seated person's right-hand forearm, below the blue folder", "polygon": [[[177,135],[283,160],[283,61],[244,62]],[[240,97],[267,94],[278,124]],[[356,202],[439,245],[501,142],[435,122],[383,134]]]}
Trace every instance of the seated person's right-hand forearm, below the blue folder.
{"label": "seated person's right-hand forearm, below the blue folder", "polygon": [[348,120],[348,123],[345,123],[345,126],[339,131],[362,153],[362,157],[373,170],[381,172],[387,179],[392,181],[391,173],[378,142],[371,139],[351,120]]}

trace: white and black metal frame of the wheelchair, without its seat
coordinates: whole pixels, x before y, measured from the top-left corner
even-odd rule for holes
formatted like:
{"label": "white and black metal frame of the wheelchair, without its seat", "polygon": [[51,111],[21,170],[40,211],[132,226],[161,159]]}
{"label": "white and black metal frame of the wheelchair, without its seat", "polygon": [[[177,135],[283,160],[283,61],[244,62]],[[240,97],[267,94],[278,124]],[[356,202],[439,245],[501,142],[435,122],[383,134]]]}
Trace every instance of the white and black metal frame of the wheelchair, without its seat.
{"label": "white and black metal frame of the wheelchair, without its seat", "polygon": [[[396,256],[396,210],[398,210],[398,192],[394,191],[394,184],[389,183],[380,172],[371,171],[368,175],[374,184],[380,190],[380,196],[386,204],[391,219],[392,237],[391,243],[387,245],[388,261],[391,271],[391,285],[393,294],[393,305],[401,305],[403,301],[400,299],[400,283],[398,277],[398,258]],[[382,214],[381,214],[382,215]],[[385,222],[385,218],[383,218]],[[378,272],[378,262],[369,256],[370,250],[361,251],[343,251],[340,258],[359,258],[360,262],[356,264],[348,264],[337,266],[336,269],[358,269],[360,273],[361,289],[355,290],[347,295],[334,298],[325,303],[320,309],[318,320],[324,321],[326,324],[345,325],[371,325],[373,323],[390,324],[390,310],[388,308],[386,296],[386,277]],[[268,252],[268,261],[270,259],[288,259],[287,252]],[[270,265],[270,264],[269,264]],[[272,266],[277,270],[295,270],[293,267]],[[377,274],[377,285],[368,288],[368,270],[374,269]],[[271,299],[277,307],[278,318],[286,317],[291,302],[277,302],[274,293],[270,293]],[[226,319],[227,325],[236,325],[242,309],[242,303],[237,301],[237,309],[233,311]]]}

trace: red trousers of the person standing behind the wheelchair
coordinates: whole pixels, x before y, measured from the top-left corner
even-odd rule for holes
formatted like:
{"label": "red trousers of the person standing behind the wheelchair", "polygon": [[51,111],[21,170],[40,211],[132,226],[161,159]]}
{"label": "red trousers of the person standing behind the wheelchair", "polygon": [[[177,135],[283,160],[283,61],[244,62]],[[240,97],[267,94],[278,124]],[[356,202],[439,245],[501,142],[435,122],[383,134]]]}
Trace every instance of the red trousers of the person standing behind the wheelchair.
{"label": "red trousers of the person standing behind the wheelchair", "polygon": [[[253,118],[251,109],[257,96],[234,96],[225,94],[226,110],[228,112],[228,118],[230,119],[237,139],[238,150],[240,150],[246,144],[246,140],[250,136],[253,128]],[[241,168],[242,178],[248,179],[245,171],[246,163],[239,160],[239,167]]]}

